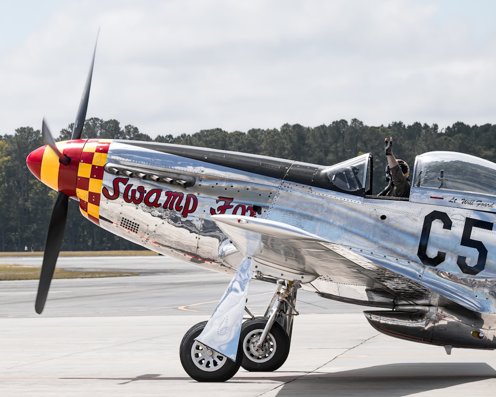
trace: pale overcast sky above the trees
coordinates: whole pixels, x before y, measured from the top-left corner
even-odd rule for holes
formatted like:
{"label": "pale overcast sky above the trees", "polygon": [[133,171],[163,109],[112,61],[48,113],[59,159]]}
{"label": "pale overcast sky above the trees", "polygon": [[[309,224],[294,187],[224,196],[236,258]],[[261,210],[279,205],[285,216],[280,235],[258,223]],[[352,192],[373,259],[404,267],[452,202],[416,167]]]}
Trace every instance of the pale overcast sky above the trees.
{"label": "pale overcast sky above the trees", "polygon": [[151,137],[283,124],[496,124],[496,1],[16,0],[0,135],[87,117]]}

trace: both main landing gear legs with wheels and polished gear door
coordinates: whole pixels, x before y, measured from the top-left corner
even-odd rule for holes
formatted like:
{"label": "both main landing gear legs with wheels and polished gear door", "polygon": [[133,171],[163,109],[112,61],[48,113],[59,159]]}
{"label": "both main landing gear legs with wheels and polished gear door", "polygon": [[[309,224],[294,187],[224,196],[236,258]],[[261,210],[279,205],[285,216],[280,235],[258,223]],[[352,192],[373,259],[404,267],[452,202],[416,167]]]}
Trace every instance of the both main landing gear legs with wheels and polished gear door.
{"label": "both main landing gear legs with wheels and polished gear door", "polygon": [[191,327],[181,341],[181,364],[198,382],[225,382],[241,365],[247,371],[275,371],[288,357],[300,284],[277,280],[264,317],[252,316],[242,324],[252,275],[247,269],[249,262],[242,262],[210,320]]}

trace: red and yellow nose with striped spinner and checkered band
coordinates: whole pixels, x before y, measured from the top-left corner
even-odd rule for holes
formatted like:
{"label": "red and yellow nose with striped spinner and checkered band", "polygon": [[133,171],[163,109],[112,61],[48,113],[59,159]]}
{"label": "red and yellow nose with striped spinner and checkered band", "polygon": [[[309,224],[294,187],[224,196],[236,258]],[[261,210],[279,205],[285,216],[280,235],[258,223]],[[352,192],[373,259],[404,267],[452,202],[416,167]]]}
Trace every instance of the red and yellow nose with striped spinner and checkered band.
{"label": "red and yellow nose with striped spinner and checkered band", "polygon": [[57,148],[70,158],[59,161],[49,146],[42,146],[26,159],[31,173],[48,187],[79,201],[81,213],[99,224],[100,194],[111,139],[73,139],[57,142]]}

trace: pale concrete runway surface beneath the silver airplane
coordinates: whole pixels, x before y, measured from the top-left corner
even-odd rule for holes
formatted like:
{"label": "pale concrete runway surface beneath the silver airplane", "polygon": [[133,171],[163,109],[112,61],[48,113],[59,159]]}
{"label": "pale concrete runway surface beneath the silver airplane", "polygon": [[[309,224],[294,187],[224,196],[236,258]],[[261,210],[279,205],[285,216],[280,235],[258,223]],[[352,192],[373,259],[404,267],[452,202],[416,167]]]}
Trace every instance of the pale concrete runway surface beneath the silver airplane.
{"label": "pale concrete runway surface beneath the silver airplane", "polygon": [[[0,258],[40,265],[41,258]],[[291,351],[272,373],[225,383],[184,372],[184,333],[207,320],[230,277],[167,257],[61,258],[59,267],[140,276],[54,280],[34,312],[37,281],[0,282],[0,396],[493,396],[496,352],[412,343],[370,327],[364,308],[300,292]],[[272,285],[252,282],[262,314]]]}

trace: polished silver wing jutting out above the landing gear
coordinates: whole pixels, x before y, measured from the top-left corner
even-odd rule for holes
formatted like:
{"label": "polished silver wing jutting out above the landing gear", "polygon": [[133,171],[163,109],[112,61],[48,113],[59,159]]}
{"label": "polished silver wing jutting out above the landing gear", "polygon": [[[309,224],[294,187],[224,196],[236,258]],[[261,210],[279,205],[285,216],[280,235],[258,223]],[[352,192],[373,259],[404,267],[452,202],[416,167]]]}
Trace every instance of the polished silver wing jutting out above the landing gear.
{"label": "polished silver wing jutting out above the landing gear", "polygon": [[253,270],[301,280],[321,296],[376,307],[432,304],[439,295],[358,253],[285,223],[237,215],[212,219]]}

